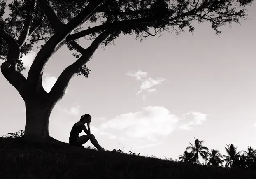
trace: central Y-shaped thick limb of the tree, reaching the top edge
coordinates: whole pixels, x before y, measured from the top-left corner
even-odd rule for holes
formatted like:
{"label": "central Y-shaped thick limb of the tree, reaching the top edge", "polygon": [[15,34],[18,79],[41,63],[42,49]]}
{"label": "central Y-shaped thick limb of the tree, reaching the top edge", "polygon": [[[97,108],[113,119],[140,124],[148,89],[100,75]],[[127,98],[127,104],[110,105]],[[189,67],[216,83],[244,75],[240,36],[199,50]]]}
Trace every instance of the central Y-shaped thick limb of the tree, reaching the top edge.
{"label": "central Y-shaped thick limb of the tree, reaching the top edge", "polygon": [[42,4],[44,12],[51,22],[51,25],[54,27],[54,30],[57,30],[58,33],[55,33],[47,43],[42,47],[42,49],[38,52],[33,64],[31,65],[28,72],[28,84],[31,88],[39,87],[39,79],[40,75],[44,71],[44,67],[51,57],[51,55],[56,52],[61,46],[65,44],[66,37],[79,26],[85,19],[88,19],[89,16],[93,13],[93,11],[100,5],[101,2],[105,0],[95,0],[90,2],[84,10],[75,16],[67,25],[61,23],[53,9],[48,5],[47,0],[39,0]]}

